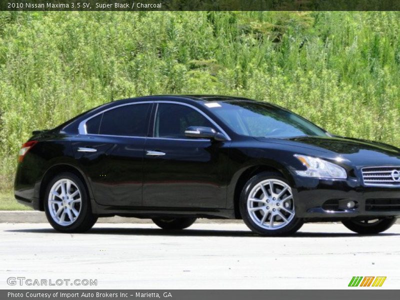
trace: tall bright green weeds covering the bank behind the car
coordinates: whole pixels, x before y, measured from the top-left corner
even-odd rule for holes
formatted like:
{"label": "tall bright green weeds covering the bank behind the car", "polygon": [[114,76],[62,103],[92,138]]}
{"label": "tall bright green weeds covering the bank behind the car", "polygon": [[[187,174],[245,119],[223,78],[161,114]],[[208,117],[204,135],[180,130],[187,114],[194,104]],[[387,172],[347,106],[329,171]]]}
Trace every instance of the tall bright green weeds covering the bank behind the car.
{"label": "tall bright green weeds covering the bank behind the car", "polygon": [[270,101],[400,146],[400,12],[0,12],[0,190],[34,129],[163,93]]}

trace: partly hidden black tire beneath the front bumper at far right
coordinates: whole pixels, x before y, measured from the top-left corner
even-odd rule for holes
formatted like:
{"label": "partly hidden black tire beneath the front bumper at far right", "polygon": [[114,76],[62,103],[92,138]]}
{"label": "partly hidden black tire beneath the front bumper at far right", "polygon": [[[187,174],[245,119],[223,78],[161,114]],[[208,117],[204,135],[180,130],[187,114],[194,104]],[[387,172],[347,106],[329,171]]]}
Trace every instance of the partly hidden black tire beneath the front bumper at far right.
{"label": "partly hidden black tire beneath the front bumper at far right", "polygon": [[344,220],[343,225],[359,234],[377,234],[389,229],[396,222],[395,217],[375,220]]}

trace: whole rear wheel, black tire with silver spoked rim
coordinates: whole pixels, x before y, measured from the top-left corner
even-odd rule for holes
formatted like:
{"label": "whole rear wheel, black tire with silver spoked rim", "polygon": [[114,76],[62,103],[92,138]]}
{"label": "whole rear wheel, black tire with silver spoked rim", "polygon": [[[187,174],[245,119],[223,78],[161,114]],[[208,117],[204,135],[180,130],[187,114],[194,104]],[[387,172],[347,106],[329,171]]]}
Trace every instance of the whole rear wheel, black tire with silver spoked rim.
{"label": "whole rear wheel, black tire with silver spoked rim", "polygon": [[85,185],[69,172],[56,175],[48,183],[44,210],[50,225],[60,232],[84,232],[97,221]]}

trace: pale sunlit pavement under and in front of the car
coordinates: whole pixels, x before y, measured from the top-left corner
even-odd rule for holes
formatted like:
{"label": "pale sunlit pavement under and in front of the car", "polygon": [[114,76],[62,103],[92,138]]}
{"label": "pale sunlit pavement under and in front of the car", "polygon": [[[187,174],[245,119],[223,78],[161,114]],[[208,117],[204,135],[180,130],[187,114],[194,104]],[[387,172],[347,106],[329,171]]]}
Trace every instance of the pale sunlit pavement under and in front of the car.
{"label": "pale sunlit pavement under and in front of the car", "polygon": [[[370,236],[314,223],[293,236],[260,237],[241,223],[181,231],[99,223],[80,234],[57,233],[47,223],[0,223],[0,288],[67,288],[55,283],[91,279],[97,285],[71,287],[336,289],[348,288],[352,276],[386,276],[373,288],[400,287],[399,224]],[[26,285],[42,279],[47,286]]]}

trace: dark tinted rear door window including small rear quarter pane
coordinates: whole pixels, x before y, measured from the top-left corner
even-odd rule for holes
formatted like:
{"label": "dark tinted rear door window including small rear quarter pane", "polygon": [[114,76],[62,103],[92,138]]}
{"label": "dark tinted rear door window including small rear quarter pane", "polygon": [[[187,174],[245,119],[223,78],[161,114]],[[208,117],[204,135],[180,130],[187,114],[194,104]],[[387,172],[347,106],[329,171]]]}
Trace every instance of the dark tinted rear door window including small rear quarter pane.
{"label": "dark tinted rear door window including small rear quarter pane", "polygon": [[104,135],[147,135],[150,104],[131,104],[107,110],[86,122],[86,132]]}

